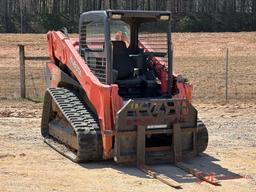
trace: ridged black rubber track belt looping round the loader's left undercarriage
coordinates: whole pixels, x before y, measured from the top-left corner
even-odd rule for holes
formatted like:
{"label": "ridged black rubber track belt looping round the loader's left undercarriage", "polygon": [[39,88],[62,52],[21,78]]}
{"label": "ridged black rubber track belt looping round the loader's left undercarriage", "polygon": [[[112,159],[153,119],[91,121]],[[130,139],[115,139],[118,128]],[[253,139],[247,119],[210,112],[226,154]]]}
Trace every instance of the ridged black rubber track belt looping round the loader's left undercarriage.
{"label": "ridged black rubber track belt looping round the loader's left undercarriage", "polygon": [[[58,106],[66,121],[77,135],[78,151],[74,152],[65,145],[60,145],[48,132],[48,124],[53,118],[52,101]],[[65,88],[49,88],[45,94],[42,116],[42,135],[45,142],[62,155],[75,162],[100,160],[102,158],[102,141],[98,119],[88,107],[71,91]]]}

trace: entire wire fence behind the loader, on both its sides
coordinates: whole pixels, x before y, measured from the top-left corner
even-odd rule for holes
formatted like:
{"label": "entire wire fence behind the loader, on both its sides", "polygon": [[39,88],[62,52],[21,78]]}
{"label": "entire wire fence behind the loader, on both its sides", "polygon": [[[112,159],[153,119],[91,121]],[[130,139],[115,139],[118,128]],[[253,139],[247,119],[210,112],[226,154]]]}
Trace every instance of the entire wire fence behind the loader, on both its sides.
{"label": "entire wire fence behind the loader, on both its sides", "polygon": [[[193,98],[214,100],[256,99],[256,53],[236,47],[216,49],[215,56],[174,54],[174,69],[193,84]],[[47,46],[26,45],[26,55],[47,56]],[[227,67],[228,64],[228,67]],[[46,61],[26,61],[26,97],[42,100],[46,89]],[[227,94],[227,95],[226,95]],[[18,46],[0,44],[0,99],[20,97]]]}

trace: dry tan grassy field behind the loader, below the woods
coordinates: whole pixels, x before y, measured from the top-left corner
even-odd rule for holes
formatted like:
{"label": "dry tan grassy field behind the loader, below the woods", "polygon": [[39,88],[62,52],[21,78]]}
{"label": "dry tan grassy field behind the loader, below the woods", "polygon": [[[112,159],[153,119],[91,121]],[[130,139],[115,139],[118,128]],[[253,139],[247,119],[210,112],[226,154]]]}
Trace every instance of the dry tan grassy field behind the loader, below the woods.
{"label": "dry tan grassy field behind the loader, below the woods", "polygon": [[[75,35],[74,35],[75,36]],[[194,85],[194,98],[225,98],[226,50],[229,50],[229,97],[256,98],[256,32],[174,33],[174,69]],[[46,34],[0,34],[0,97],[19,96],[17,44],[26,54],[47,56]],[[45,62],[26,63],[27,93],[42,97]]]}

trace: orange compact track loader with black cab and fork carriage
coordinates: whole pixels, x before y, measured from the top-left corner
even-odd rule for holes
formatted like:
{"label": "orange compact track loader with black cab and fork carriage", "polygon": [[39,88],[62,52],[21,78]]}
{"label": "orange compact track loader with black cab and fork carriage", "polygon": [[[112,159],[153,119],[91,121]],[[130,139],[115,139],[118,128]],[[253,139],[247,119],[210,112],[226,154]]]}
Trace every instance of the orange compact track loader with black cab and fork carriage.
{"label": "orange compact track loader with black cab and fork carriage", "polygon": [[79,39],[47,34],[51,62],[41,132],[74,162],[137,165],[202,153],[192,86],[173,72],[170,12],[90,11]]}

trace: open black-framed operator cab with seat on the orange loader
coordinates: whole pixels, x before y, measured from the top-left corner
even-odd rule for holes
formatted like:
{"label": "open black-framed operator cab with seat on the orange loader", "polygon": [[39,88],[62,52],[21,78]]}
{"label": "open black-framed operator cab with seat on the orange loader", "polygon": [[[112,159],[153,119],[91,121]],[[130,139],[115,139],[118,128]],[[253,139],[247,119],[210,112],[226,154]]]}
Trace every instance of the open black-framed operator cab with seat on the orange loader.
{"label": "open black-framed operator cab with seat on the orange loader", "polygon": [[80,19],[80,54],[102,83],[118,85],[121,97],[159,97],[156,62],[171,64],[169,27],[169,12],[85,13]]}

